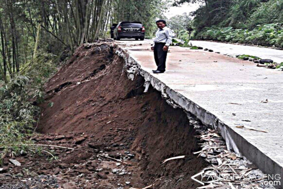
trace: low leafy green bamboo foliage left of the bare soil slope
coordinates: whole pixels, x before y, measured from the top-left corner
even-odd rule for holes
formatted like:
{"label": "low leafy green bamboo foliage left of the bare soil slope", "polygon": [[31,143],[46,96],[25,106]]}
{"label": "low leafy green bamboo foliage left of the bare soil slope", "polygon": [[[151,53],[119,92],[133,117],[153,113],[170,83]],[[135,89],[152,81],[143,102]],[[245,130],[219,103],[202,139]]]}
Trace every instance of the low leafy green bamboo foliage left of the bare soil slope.
{"label": "low leafy green bamboo foliage left of the bare soil slope", "polygon": [[[17,154],[26,144],[40,116],[34,104],[44,99],[43,84],[56,71],[56,56],[39,51],[31,65],[15,75],[8,83],[0,83],[0,161],[7,152]],[[20,144],[20,146],[19,146]]]}

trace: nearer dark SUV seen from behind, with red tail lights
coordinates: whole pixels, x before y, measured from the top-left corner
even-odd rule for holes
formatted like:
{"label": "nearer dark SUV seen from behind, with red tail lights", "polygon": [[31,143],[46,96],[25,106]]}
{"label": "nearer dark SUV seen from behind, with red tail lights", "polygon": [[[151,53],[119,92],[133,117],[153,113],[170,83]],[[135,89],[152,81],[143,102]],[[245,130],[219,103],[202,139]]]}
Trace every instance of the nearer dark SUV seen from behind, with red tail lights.
{"label": "nearer dark SUV seen from behind, with red tail lights", "polygon": [[119,22],[113,33],[116,40],[122,38],[144,40],[145,28],[141,22]]}

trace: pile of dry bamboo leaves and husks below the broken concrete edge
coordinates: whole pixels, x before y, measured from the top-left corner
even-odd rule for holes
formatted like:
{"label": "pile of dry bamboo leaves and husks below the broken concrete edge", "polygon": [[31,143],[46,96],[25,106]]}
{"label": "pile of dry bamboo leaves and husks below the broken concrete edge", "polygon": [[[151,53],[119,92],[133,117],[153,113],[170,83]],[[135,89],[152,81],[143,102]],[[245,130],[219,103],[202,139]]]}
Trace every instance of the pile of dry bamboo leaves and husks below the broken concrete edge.
{"label": "pile of dry bamboo leaves and husks below the broken concrete edge", "polygon": [[[260,131],[256,128],[239,124],[237,124],[236,127]],[[243,179],[243,177],[248,178],[250,174],[256,173],[255,175],[258,175],[258,173],[263,173],[257,169],[256,166],[251,167],[251,164],[244,160],[243,157],[234,152],[230,152],[227,147],[223,145],[225,142],[221,139],[222,137],[220,137],[217,131],[207,129],[207,131],[203,131],[203,133],[197,137],[203,142],[199,144],[201,150],[193,152],[193,154],[198,155],[198,157],[201,156],[205,158],[207,162],[211,163],[210,167],[204,168],[201,172],[201,182],[205,183],[205,186],[198,187],[198,189],[257,188],[257,186],[263,182],[260,177],[256,177],[255,179]],[[221,175],[226,175],[226,178],[224,176],[221,177]]]}

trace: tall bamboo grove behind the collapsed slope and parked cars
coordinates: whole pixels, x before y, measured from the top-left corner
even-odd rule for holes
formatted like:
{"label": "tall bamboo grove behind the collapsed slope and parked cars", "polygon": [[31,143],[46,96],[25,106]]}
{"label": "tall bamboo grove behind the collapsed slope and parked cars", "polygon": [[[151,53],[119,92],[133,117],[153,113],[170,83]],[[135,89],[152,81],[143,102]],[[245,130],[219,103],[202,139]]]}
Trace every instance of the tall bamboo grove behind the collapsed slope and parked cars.
{"label": "tall bamboo grove behind the collapsed slope and parked cars", "polygon": [[138,20],[151,35],[154,19],[165,8],[160,5],[160,0],[3,0],[0,80],[27,71],[42,52],[58,56],[107,37],[112,23]]}

